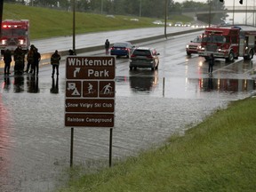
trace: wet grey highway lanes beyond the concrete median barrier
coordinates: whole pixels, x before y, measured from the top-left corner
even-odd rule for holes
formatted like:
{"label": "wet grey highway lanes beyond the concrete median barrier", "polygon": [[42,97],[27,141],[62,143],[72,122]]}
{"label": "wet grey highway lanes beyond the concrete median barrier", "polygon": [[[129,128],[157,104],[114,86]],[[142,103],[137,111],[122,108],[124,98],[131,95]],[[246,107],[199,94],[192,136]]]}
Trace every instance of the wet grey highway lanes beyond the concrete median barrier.
{"label": "wet grey highway lanes beyond the concrete median barrier", "polygon": [[[193,28],[166,28],[166,34],[176,33],[180,31],[195,30]],[[106,39],[110,44],[122,41],[134,41],[152,36],[164,35],[164,27],[161,28],[137,28],[107,31],[99,33],[89,33],[84,35],[76,35],[76,50],[83,49],[84,47],[102,46],[104,51],[104,43]],[[59,50],[60,52],[67,52],[69,49],[73,49],[73,36],[60,36],[52,37],[49,39],[34,40],[31,44],[35,44],[39,52],[48,53]]]}

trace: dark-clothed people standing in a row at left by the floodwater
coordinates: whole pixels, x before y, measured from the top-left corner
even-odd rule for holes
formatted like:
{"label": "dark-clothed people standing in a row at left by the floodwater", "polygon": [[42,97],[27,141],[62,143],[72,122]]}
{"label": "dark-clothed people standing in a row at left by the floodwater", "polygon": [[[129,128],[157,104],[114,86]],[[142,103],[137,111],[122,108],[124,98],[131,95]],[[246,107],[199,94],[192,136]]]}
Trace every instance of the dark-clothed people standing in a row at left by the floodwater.
{"label": "dark-clothed people standing in a row at left by the floodwater", "polygon": [[[75,54],[75,52],[70,52],[70,54]],[[52,77],[55,74],[59,76],[59,65],[60,65],[60,54],[56,50],[51,56],[51,65],[52,65]],[[14,60],[14,74],[21,75],[23,73],[31,73],[34,76],[38,76],[39,73],[39,62],[41,60],[41,54],[38,52],[38,49],[34,44],[30,45],[30,49],[27,55],[27,68],[25,68],[25,52],[21,49],[20,45],[13,52]],[[4,51],[4,75],[10,75],[10,68],[12,63],[12,52],[9,49]]]}

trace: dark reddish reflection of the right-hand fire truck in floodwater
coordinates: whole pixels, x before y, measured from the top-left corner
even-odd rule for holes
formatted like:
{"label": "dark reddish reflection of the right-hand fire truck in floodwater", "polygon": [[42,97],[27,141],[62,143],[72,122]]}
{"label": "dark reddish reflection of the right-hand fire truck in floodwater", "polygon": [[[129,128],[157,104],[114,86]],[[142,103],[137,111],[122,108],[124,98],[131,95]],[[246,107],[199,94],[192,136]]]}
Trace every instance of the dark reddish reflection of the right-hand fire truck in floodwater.
{"label": "dark reddish reflection of the right-hand fire truck in floodwater", "polygon": [[256,82],[251,79],[199,79],[200,90],[204,92],[248,92],[256,89]]}

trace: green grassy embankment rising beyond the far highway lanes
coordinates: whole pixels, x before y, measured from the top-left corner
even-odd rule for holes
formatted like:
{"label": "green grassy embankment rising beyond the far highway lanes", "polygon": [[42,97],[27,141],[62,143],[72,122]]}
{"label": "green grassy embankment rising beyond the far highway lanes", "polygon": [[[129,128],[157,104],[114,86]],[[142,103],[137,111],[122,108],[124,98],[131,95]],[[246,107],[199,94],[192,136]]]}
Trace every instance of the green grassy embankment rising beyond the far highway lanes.
{"label": "green grassy embankment rising beyond the far highway lanes", "polygon": [[[170,22],[175,20],[191,21],[186,16],[171,16]],[[20,4],[4,4],[4,20],[30,20],[31,39],[47,38],[52,36],[71,36],[73,33],[73,12],[58,11],[41,7],[31,7]],[[134,16],[116,15],[115,18],[106,15],[76,12],[76,34],[100,32],[109,30],[122,30],[127,28],[157,27],[152,24],[150,18],[140,18],[140,21],[132,21]],[[139,19],[137,17],[137,19]],[[164,21],[164,20],[163,20]],[[163,26],[162,26],[163,27]]]}

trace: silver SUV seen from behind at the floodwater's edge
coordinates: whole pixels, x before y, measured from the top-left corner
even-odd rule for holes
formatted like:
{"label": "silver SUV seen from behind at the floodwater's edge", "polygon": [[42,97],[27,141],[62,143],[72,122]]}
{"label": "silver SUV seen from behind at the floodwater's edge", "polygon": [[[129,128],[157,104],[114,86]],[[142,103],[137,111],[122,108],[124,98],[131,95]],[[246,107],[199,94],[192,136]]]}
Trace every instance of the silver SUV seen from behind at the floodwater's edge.
{"label": "silver SUV seen from behind at the floodwater's edge", "polygon": [[130,70],[132,68],[151,68],[155,70],[159,66],[159,56],[155,48],[137,47],[130,58]]}

